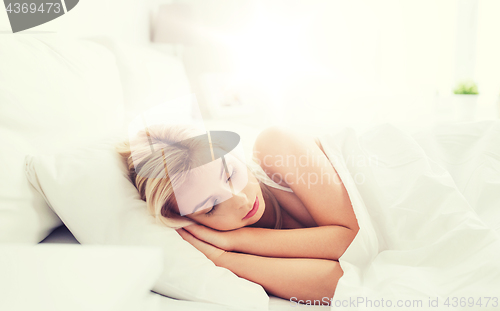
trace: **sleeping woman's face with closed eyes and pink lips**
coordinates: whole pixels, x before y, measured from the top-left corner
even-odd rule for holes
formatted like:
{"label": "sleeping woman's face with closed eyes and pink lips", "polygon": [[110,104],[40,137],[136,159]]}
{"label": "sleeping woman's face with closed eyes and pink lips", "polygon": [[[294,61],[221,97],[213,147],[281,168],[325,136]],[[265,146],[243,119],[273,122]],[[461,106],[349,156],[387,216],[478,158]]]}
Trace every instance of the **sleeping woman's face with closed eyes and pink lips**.
{"label": "sleeping woman's face with closed eyes and pink lips", "polygon": [[252,225],[265,210],[257,179],[232,154],[191,170],[175,196],[177,212],[221,231]]}

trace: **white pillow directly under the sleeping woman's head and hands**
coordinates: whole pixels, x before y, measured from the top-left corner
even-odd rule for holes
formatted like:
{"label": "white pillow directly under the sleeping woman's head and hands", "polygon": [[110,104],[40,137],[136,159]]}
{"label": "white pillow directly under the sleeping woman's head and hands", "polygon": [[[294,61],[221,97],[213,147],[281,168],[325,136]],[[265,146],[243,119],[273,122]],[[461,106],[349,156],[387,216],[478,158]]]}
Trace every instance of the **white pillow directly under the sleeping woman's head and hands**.
{"label": "white pillow directly under the sleeping woman's head and hands", "polygon": [[267,309],[262,286],[217,267],[172,228],[156,224],[109,137],[57,155],[26,157],[30,182],[82,244],[161,246],[154,291],[173,298]]}

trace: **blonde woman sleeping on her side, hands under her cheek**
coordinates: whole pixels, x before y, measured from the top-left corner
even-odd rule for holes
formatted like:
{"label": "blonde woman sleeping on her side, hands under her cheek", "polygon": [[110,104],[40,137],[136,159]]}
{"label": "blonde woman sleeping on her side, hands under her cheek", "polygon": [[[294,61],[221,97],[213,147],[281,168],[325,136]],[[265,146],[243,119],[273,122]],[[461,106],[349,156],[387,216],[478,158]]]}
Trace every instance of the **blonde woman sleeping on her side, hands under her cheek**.
{"label": "blonde woman sleeping on her side, hands under her cheek", "polygon": [[[244,163],[223,143],[189,139],[194,133],[155,126],[118,147],[149,212],[215,265],[269,294],[332,298],[343,275],[338,259],[359,226],[320,141],[270,127]],[[207,150],[217,160],[204,164]]]}

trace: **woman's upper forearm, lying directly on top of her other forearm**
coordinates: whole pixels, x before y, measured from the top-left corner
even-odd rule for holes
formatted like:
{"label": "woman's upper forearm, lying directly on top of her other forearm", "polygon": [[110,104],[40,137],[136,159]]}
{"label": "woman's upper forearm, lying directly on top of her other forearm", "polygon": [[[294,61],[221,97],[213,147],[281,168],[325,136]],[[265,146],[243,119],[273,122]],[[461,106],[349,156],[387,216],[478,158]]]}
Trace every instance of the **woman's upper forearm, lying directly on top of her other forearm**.
{"label": "woman's upper forearm, lying directly on top of her other forearm", "polygon": [[268,257],[338,260],[356,233],[342,226],[285,230],[245,227],[235,231],[233,251]]}

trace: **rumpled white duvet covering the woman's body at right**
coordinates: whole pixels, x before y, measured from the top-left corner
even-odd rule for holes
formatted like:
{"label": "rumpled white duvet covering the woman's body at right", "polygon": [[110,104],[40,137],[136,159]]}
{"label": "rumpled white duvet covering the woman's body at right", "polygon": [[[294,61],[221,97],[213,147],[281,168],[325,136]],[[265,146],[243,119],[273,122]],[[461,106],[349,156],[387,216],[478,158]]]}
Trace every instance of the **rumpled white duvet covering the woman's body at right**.
{"label": "rumpled white duvet covering the woman's body at right", "polygon": [[320,140],[361,228],[333,309],[500,309],[500,122]]}

